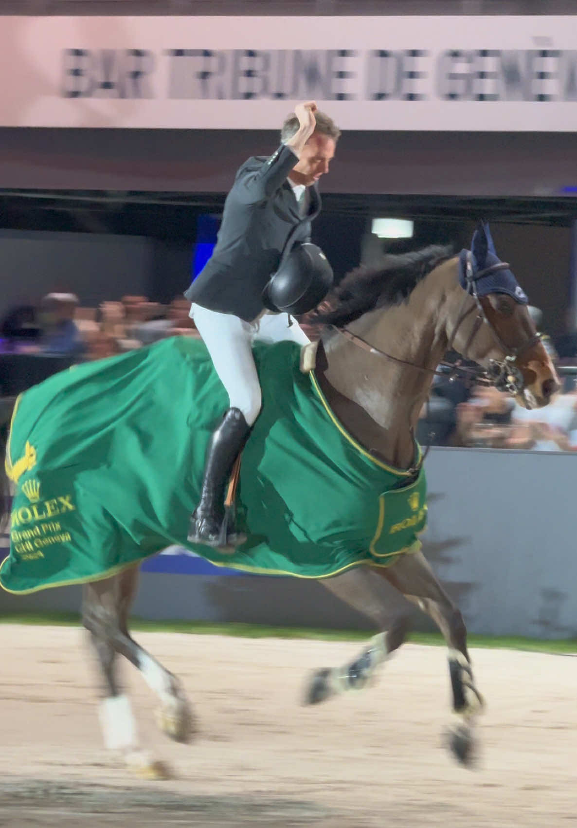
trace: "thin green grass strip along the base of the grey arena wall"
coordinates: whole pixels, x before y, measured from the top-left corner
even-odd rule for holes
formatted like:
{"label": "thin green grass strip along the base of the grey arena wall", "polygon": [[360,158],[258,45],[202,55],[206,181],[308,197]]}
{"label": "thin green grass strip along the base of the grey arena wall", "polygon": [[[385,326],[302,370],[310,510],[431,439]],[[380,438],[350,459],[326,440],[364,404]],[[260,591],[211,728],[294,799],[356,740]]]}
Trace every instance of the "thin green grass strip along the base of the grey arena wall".
{"label": "thin green grass strip along the base of the grey arena wall", "polygon": [[[76,613],[9,613],[0,614],[0,623],[76,627],[79,626],[79,615]],[[228,635],[238,638],[312,638],[321,641],[366,641],[372,634],[363,630],[271,627],[255,623],[212,623],[210,621],[147,621],[137,618],[132,619],[131,628],[155,633]],[[418,644],[445,645],[439,633],[410,633],[409,640]],[[542,640],[521,636],[469,635],[469,647],[497,647],[508,650],[569,654],[577,653],[577,639]]]}

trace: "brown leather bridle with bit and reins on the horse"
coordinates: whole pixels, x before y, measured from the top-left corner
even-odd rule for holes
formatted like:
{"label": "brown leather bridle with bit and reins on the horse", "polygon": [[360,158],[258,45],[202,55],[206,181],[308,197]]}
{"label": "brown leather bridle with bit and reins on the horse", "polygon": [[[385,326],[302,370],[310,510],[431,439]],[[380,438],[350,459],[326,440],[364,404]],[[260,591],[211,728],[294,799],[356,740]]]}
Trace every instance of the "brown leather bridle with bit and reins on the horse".
{"label": "brown leather bridle with bit and reins on the horse", "polygon": [[[449,343],[447,345],[447,351],[450,351],[453,348],[454,339],[459,332],[460,326],[463,324],[464,320],[477,310],[477,316],[475,317],[473,327],[469,333],[466,343],[464,344],[464,349],[462,352],[463,359],[467,358],[467,353],[471,344],[473,344],[475,336],[478,334],[478,330],[480,329],[483,323],[488,325],[489,330],[493,335],[493,339],[498,344],[499,348],[505,354],[504,359],[491,359],[489,361],[489,365],[487,369],[483,369],[480,366],[469,366],[463,364],[463,359],[458,359],[454,363],[445,362],[445,360],[441,360],[440,366],[443,368],[450,368],[449,378],[454,379],[457,378],[459,375],[464,375],[465,378],[469,378],[469,380],[474,380],[477,383],[482,383],[486,385],[493,385],[495,388],[498,388],[499,391],[507,391],[510,394],[517,395],[523,391],[525,388],[525,381],[523,379],[523,375],[521,370],[517,366],[517,359],[529,348],[532,348],[533,345],[536,345],[537,342],[541,340],[541,335],[534,334],[525,342],[523,342],[518,348],[510,348],[508,347],[501,339],[501,336],[498,334],[498,330],[493,325],[493,322],[489,319],[487,312],[483,306],[483,302],[481,301],[482,297],[478,295],[477,289],[477,282],[479,279],[483,279],[483,277],[490,276],[493,273],[496,273],[500,270],[508,270],[509,265],[507,262],[496,262],[495,264],[489,265],[489,267],[483,267],[483,270],[478,270],[474,272],[473,267],[473,254],[470,250],[467,251],[467,259],[466,259],[466,269],[465,269],[465,295],[463,297],[463,301],[461,303],[459,309],[459,315],[457,316],[457,321],[454,324],[453,330],[451,331],[449,337]],[[474,304],[467,307],[469,297],[472,296],[474,299]],[[424,373],[435,374],[437,376],[446,376],[445,371],[440,371],[438,368],[426,368],[423,365],[417,365],[416,363],[411,363],[406,359],[400,359],[399,357],[395,357],[392,354],[387,354],[386,351],[381,349],[375,348],[372,344],[368,343],[366,339],[363,339],[362,336],[358,336],[357,334],[353,334],[353,331],[348,330],[347,328],[338,328],[335,325],[331,325],[331,327],[338,331],[340,335],[344,336],[345,339],[349,339],[350,342],[358,345],[363,350],[368,351],[369,354],[375,354],[376,356],[382,357],[384,359],[390,359],[392,362],[400,363],[401,365],[406,365],[409,368],[415,368],[417,371],[422,371]]]}

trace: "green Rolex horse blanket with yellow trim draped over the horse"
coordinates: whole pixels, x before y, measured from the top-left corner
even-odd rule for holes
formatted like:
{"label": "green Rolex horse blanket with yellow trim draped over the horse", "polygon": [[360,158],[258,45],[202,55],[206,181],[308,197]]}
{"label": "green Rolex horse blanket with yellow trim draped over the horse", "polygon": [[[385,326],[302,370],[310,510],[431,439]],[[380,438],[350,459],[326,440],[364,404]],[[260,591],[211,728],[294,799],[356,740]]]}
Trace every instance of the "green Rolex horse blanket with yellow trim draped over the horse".
{"label": "green Rolex horse blanket with yellow trim draped over the horse", "polygon": [[407,472],[344,431],[315,373],[301,373],[299,346],[263,344],[254,357],[262,412],[241,465],[243,546],[228,555],[186,541],[228,398],[204,344],[175,337],[75,366],[19,398],[2,587],[26,593],[103,578],[172,544],[220,566],[307,578],[388,566],[419,549],[423,472],[407,485]]}

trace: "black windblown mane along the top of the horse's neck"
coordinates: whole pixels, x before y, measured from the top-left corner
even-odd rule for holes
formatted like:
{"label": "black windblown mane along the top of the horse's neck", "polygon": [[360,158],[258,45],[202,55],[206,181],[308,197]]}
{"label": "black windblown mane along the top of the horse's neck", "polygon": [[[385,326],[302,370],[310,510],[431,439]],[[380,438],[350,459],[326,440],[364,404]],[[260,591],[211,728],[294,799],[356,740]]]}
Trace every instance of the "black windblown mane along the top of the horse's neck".
{"label": "black windblown mane along the top of the horse's neck", "polygon": [[453,256],[453,249],[430,244],[422,250],[388,254],[378,267],[355,267],[307,320],[310,325],[348,325],[369,310],[400,305],[419,282]]}

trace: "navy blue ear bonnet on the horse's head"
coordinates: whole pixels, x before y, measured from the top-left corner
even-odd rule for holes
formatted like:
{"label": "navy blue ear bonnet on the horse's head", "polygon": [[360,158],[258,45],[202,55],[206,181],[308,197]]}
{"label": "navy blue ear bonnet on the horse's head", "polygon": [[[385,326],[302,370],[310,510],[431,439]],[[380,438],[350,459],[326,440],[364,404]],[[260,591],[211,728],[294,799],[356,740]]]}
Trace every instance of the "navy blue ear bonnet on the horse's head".
{"label": "navy blue ear bonnet on the horse's head", "polygon": [[[473,265],[473,277],[480,271],[502,263],[495,252],[495,245],[493,244],[493,238],[491,238],[488,224],[483,222],[478,225],[478,229],[475,230],[473,235],[470,253],[470,260]],[[459,253],[459,282],[465,291],[471,292],[467,281],[468,258],[469,250],[461,250]],[[486,276],[474,279],[474,282],[477,289],[477,296],[487,296],[489,293],[507,293],[519,305],[527,305],[529,302],[527,294],[523,291],[522,286],[517,282],[517,279],[508,267],[489,272]]]}

